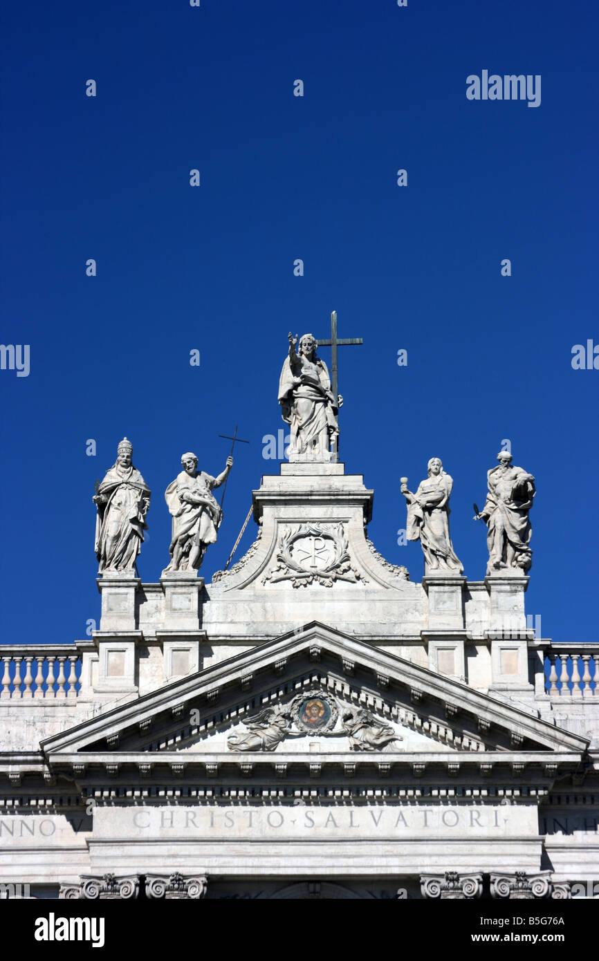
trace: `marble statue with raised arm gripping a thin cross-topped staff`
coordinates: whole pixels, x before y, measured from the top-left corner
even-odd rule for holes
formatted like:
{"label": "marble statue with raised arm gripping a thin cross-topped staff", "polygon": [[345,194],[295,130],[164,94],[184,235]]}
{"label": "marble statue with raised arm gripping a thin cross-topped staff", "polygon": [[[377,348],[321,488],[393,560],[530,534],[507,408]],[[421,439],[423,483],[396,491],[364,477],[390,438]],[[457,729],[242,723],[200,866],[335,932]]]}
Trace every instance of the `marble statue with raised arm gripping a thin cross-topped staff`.
{"label": "marble statue with raised arm gripping a thin cross-topped staff", "polygon": [[226,480],[233,467],[233,457],[227,457],[225,469],[217,478],[198,471],[198,458],[191,452],[181,457],[181,463],[183,470],[164,491],[173,518],[168,549],[171,561],[166,570],[197,571],[208,545],[216,542],[222,521],[222,510],[212,490]]}

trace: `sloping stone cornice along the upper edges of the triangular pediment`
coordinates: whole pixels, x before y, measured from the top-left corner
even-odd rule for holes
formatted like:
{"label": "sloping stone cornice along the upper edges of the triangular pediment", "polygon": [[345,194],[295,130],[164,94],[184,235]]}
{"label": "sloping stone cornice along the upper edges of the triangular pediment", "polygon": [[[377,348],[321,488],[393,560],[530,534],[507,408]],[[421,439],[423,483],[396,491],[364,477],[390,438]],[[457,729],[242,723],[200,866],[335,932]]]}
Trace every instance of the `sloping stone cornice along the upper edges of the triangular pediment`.
{"label": "sloping stone cornice along the upper edges of the triangular pediment", "polygon": [[[468,746],[469,752],[478,754],[481,747],[484,752],[490,746],[502,753],[556,752],[580,757],[587,749],[585,738],[533,713],[317,622],[117,706],[45,739],[40,747],[49,760],[58,760],[59,754],[87,752],[91,747],[101,752],[103,740],[107,751],[109,746],[120,750],[119,742],[131,739],[135,732],[136,752],[147,751],[154,739],[151,727],[184,728],[179,719],[194,705],[205,717],[237,711],[239,719],[268,702],[261,699],[276,700],[277,692],[285,697],[288,684],[309,677],[311,671],[314,677],[328,678],[329,683],[345,684],[350,698],[354,692],[354,700],[359,691],[365,702],[378,699],[397,705],[408,719],[412,710],[414,717],[469,730],[473,744],[477,738],[480,742],[480,746]],[[248,702],[250,707],[245,708]]]}

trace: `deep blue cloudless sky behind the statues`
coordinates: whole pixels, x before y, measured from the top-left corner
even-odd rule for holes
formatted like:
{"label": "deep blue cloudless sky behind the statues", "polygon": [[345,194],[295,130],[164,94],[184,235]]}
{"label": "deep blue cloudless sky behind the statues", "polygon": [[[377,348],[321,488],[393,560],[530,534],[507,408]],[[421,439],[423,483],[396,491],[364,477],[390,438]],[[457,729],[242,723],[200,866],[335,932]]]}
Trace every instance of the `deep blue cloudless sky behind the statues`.
{"label": "deep blue cloudless sky behind the statues", "polygon": [[[285,426],[287,331],[328,336],[332,309],[364,341],[340,350],[341,453],[375,490],[377,549],[421,578],[399,478],[414,489],[440,456],[483,579],[472,503],[509,438],[537,478],[527,611],[557,642],[594,639],[599,371],[571,352],[599,344],[598,19],[576,0],[8,6],[1,340],[31,367],[0,371],[3,641],[67,643],[99,618],[91,495],[123,434],[153,492],[146,581],[181,454],[216,474],[219,433],[251,441],[201,573],[223,566],[278,472],[262,437]],[[467,100],[484,69],[540,75],[540,106]]]}

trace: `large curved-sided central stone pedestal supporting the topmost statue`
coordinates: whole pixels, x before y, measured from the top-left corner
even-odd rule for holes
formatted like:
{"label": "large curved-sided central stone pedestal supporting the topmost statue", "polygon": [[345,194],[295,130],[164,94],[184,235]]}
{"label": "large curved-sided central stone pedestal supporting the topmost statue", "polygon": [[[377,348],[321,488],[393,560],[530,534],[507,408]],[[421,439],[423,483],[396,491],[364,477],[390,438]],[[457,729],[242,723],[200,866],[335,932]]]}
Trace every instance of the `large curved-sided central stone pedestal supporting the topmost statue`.
{"label": "large curved-sided central stone pedestal supporting the topmost statue", "polygon": [[264,639],[318,620],[373,639],[417,638],[427,627],[426,594],[367,539],[373,491],[362,475],[345,474],[342,463],[280,470],[253,491],[260,536],[206,586],[202,628]]}

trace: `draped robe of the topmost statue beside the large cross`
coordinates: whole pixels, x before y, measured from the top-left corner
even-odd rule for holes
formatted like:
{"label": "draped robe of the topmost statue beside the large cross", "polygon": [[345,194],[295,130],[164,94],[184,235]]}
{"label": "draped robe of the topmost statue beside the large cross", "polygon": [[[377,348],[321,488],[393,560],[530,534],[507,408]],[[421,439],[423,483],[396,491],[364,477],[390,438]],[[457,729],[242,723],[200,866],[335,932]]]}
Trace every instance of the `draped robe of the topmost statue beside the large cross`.
{"label": "draped robe of the topmost statue beside the large cross", "polygon": [[[294,384],[293,378],[301,383]],[[336,398],[337,402],[337,398]],[[279,404],[291,432],[291,450],[329,450],[338,433],[337,407],[331,393],[329,371],[324,360],[297,355],[293,364],[286,357],[279,381]]]}

